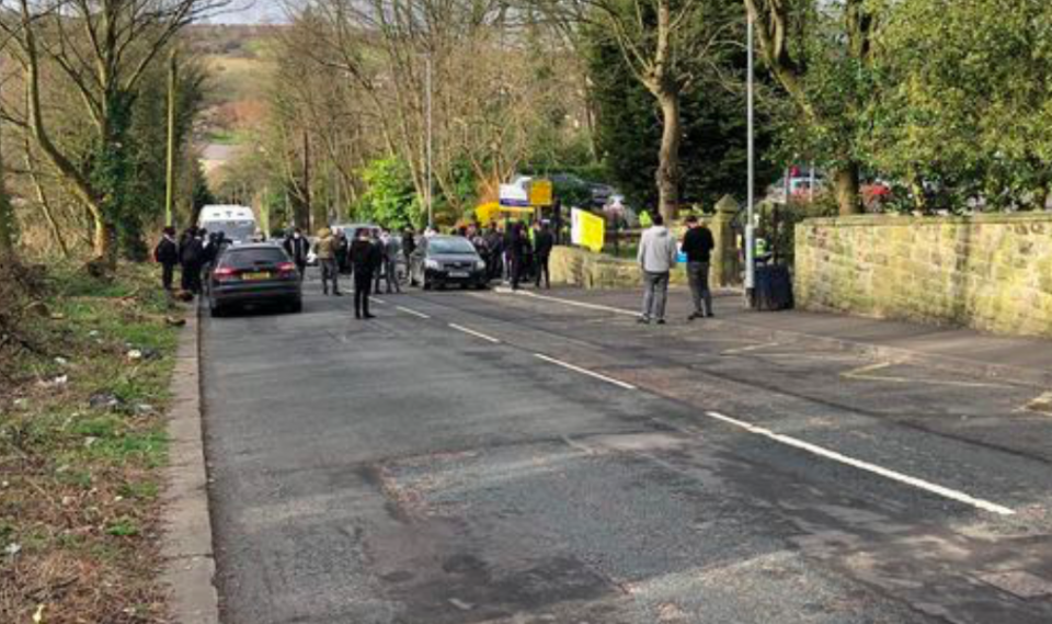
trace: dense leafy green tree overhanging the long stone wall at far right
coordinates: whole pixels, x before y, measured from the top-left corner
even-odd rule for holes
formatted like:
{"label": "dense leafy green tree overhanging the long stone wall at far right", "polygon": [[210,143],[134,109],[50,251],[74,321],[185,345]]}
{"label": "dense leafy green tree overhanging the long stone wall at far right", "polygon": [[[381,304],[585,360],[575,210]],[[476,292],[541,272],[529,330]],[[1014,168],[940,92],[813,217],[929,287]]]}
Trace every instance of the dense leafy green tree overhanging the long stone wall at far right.
{"label": "dense leafy green tree overhanging the long stone wall at far right", "polygon": [[919,211],[1043,208],[1052,194],[1052,5],[904,0],[881,30],[872,166]]}

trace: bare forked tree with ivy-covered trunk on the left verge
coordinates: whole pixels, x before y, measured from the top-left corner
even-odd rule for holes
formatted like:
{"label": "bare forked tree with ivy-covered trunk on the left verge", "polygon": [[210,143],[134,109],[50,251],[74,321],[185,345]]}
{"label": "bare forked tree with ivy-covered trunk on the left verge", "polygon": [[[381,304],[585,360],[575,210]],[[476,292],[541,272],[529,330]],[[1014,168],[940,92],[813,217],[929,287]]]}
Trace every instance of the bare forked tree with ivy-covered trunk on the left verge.
{"label": "bare forked tree with ivy-covered trunk on the left verge", "polygon": [[[104,266],[116,260],[117,234],[134,225],[134,104],[144,77],[176,34],[226,0],[20,0],[15,41],[27,110],[24,129],[70,193],[91,213],[93,249]],[[45,78],[46,77],[46,78]],[[42,105],[42,81],[72,89],[90,127],[90,155],[56,139]]]}

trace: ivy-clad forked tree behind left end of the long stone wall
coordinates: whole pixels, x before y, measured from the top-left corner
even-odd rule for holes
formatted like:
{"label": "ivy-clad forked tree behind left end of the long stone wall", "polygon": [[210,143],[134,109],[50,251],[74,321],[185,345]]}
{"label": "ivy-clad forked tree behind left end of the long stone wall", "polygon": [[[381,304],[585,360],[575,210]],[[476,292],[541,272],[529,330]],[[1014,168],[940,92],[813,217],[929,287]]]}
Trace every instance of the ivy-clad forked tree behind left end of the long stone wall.
{"label": "ivy-clad forked tree behind left end of the long stone wall", "polygon": [[861,209],[861,136],[872,94],[872,0],[744,0],[756,43],[797,113],[789,140],[831,166],[841,214]]}

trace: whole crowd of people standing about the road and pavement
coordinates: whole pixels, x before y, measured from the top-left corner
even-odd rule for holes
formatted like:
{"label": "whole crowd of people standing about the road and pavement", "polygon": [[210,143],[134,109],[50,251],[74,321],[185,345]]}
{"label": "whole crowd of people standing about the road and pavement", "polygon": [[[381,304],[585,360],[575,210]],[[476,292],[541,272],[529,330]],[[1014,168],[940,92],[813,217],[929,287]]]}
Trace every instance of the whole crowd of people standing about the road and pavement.
{"label": "whole crowd of people standing about the road and pavement", "polygon": [[[693,296],[694,310],[688,320],[712,316],[712,295],[709,288],[709,265],[714,248],[712,232],[697,217],[685,220],[686,232],[677,241],[665,227],[660,214],[647,216],[637,261],[643,276],[643,304],[639,322],[665,324],[665,303],[672,269],[679,253],[686,256],[687,280]],[[321,270],[322,293],[342,296],[340,274],[350,272],[354,283],[355,318],[373,318],[369,313],[369,296],[386,288],[387,293],[401,293],[403,279],[415,283],[423,262],[418,250],[426,239],[437,234],[434,228],[416,232],[407,228],[401,234],[385,229],[359,228],[347,232],[323,228],[311,242],[300,228],[293,229],[282,241],[282,247],[296,264],[300,276],[306,274],[309,257],[315,253]],[[478,224],[455,228],[450,234],[461,236],[474,247],[485,263],[487,279],[502,281],[517,291],[523,283],[533,282],[536,287],[551,287],[549,260],[556,245],[556,232],[548,222],[524,224],[505,222],[480,226]],[[175,229],[165,227],[153,256],[162,266],[162,285],[172,291],[176,266],[181,269],[182,291],[191,295],[202,292],[202,274],[215,262],[219,252],[229,245],[224,232],[208,232],[191,226],[176,238]],[[399,270],[404,263],[404,273]]]}

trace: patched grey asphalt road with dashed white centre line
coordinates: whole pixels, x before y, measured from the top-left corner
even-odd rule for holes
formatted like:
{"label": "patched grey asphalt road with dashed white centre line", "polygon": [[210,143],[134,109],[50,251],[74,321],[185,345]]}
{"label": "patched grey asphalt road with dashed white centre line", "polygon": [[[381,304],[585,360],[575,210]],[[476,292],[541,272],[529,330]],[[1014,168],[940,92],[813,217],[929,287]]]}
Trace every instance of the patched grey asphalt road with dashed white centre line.
{"label": "patched grey asphalt road with dashed white centre line", "polygon": [[573,292],[307,290],[202,324],[227,624],[1052,622],[1039,389]]}

